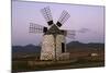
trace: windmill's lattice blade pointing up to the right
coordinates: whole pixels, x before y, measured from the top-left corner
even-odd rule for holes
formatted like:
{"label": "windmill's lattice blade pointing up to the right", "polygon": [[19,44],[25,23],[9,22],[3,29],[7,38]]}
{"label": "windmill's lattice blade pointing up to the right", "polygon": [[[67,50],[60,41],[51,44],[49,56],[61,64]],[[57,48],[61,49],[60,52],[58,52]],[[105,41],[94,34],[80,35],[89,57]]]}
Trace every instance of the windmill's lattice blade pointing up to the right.
{"label": "windmill's lattice blade pointing up to the right", "polygon": [[68,14],[67,11],[63,11],[61,17],[58,19],[56,25],[58,27],[62,26],[62,24],[64,24],[68,19],[70,17],[70,15]]}

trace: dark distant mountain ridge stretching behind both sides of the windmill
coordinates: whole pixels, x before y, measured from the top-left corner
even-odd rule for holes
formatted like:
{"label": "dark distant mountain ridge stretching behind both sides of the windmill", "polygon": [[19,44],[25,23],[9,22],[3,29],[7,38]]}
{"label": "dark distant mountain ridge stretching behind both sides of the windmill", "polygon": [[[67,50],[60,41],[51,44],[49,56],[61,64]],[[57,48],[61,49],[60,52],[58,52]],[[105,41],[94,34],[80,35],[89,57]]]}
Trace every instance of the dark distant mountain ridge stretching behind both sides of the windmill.
{"label": "dark distant mountain ridge stretching behind both sides of the windmill", "polygon": [[[82,44],[79,41],[70,41],[67,44],[67,51],[70,51],[73,49],[103,49],[105,44],[100,42],[89,42],[89,44]],[[41,52],[41,47],[40,46],[34,46],[34,45],[26,45],[26,46],[12,46],[12,53],[40,53]]]}

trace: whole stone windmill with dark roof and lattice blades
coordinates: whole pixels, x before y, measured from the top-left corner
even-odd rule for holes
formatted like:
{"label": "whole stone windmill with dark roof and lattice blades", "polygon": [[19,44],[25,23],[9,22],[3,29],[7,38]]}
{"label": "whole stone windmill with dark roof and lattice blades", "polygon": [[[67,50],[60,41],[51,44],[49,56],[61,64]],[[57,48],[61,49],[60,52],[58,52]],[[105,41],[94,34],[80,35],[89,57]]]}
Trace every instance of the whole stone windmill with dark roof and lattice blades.
{"label": "whole stone windmill with dark roof and lattice blades", "polygon": [[50,27],[30,23],[30,33],[43,33],[41,60],[69,60],[66,50],[66,36],[74,38],[75,31],[61,29],[63,24],[70,17],[67,11],[63,11],[57,23],[53,22],[50,7],[41,10]]}

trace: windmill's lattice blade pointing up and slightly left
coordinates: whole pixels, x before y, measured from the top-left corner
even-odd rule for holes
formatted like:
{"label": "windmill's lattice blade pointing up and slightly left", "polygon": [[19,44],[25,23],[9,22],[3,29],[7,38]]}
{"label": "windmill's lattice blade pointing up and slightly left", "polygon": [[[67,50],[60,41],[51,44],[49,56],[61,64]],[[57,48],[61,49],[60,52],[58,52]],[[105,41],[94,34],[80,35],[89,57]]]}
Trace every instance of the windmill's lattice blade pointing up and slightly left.
{"label": "windmill's lattice blade pointing up and slightly left", "polygon": [[42,12],[44,19],[46,20],[47,24],[52,25],[53,24],[53,17],[52,17],[50,7],[42,9],[41,12]]}

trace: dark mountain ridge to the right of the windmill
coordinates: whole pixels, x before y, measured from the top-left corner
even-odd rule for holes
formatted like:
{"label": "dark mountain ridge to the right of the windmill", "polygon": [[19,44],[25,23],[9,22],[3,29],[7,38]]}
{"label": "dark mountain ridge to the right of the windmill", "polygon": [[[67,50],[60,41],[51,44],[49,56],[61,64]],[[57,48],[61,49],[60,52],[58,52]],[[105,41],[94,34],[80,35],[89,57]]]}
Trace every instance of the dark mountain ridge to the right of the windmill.
{"label": "dark mountain ridge to the right of the windmill", "polygon": [[89,42],[89,44],[84,44],[79,41],[70,41],[67,44],[67,51],[73,51],[73,50],[87,50],[87,49],[105,49],[105,44],[101,42]]}

